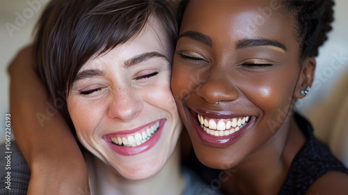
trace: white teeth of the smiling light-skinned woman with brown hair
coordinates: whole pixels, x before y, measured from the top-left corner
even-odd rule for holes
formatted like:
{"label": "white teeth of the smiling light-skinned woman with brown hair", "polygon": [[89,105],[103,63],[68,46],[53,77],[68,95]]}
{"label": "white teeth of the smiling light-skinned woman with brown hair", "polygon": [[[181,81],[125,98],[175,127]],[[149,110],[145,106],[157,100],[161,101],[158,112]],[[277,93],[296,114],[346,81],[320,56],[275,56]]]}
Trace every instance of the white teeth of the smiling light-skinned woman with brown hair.
{"label": "white teeth of the smiling light-skinned woman with brown hair", "polygon": [[151,127],[148,127],[143,132],[137,132],[136,134],[129,135],[128,137],[111,137],[111,141],[117,145],[123,146],[140,146],[142,143],[148,141],[155,132],[157,132],[159,122],[155,123]]}

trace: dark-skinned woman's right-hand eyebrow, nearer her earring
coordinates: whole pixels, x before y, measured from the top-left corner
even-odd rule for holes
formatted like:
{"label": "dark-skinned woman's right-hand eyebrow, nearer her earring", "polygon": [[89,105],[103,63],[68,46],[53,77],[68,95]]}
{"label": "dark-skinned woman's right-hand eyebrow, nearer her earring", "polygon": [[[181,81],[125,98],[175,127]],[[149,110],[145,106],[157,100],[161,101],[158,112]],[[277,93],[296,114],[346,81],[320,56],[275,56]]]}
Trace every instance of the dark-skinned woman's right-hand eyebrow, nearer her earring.
{"label": "dark-skinned woman's right-hand eyebrow, nearer her earring", "polygon": [[285,45],[283,45],[282,43],[280,43],[276,40],[269,40],[269,39],[263,39],[263,38],[239,40],[237,42],[236,49],[241,49],[241,48],[245,48],[245,47],[264,46],[264,45],[279,47],[280,49],[283,49],[284,51],[287,50]]}

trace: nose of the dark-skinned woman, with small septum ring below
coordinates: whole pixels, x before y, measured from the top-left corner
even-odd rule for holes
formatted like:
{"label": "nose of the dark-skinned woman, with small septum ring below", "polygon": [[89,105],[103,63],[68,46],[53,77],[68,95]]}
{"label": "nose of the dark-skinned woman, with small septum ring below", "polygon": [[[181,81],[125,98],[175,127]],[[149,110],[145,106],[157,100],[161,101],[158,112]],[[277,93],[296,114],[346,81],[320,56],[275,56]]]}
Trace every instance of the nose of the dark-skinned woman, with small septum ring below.
{"label": "nose of the dark-skinned woman, with small septum ring below", "polygon": [[206,79],[196,88],[196,93],[211,104],[237,100],[239,91],[231,78],[224,71],[210,69]]}

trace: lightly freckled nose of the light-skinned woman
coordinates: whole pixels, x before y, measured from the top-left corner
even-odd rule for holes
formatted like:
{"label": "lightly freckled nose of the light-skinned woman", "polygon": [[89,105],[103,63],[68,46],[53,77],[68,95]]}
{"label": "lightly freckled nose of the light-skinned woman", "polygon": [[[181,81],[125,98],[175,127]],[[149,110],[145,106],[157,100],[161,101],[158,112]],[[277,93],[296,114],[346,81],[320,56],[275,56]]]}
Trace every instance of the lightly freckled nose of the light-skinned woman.
{"label": "lightly freckled nose of the light-skinned woman", "polygon": [[128,122],[138,116],[143,109],[141,98],[132,89],[119,88],[111,97],[110,118]]}

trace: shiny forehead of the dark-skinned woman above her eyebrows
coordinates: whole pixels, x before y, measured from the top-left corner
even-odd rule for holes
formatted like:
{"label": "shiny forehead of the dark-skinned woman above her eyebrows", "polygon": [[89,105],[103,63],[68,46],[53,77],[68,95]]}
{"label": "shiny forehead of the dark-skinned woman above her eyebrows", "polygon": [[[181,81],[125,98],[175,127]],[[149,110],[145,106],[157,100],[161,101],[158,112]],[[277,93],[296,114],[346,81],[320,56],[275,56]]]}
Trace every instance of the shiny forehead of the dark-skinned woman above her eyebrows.
{"label": "shiny forehead of the dark-skinned woman above her eyebrows", "polygon": [[198,31],[214,41],[267,38],[297,44],[294,22],[278,1],[190,1],[183,31]]}

